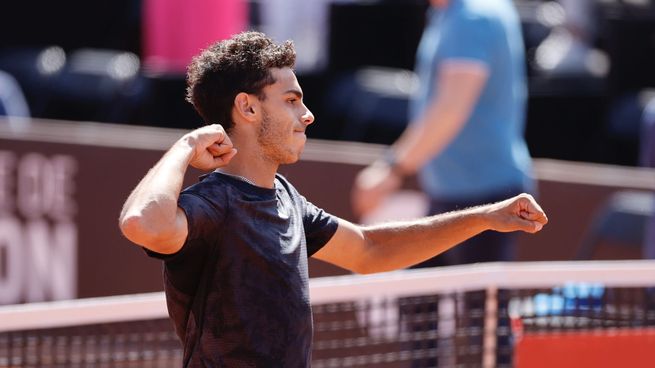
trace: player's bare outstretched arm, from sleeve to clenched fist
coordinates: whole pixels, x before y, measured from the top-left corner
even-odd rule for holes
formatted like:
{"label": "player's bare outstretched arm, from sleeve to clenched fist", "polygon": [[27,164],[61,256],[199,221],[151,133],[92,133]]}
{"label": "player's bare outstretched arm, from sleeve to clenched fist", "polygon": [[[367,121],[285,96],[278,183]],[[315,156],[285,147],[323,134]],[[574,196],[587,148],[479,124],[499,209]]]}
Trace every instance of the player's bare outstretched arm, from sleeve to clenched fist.
{"label": "player's bare outstretched arm, from sleeve to clenched fist", "polygon": [[357,273],[405,268],[432,258],[485,230],[535,233],[548,218],[529,194],[413,221],[361,227],[339,220],[314,257]]}

